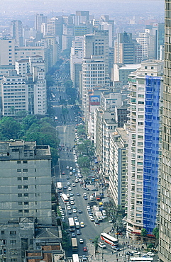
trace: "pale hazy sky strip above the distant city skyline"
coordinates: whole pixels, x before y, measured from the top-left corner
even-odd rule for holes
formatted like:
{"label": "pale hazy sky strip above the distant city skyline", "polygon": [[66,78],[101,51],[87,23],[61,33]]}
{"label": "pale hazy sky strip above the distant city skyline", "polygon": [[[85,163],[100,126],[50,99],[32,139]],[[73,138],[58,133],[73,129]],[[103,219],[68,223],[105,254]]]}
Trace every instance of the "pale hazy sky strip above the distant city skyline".
{"label": "pale hazy sky strip above the distant city skyline", "polygon": [[63,12],[75,13],[76,10],[87,10],[91,14],[99,13],[164,13],[164,0],[0,0],[0,13],[24,14]]}

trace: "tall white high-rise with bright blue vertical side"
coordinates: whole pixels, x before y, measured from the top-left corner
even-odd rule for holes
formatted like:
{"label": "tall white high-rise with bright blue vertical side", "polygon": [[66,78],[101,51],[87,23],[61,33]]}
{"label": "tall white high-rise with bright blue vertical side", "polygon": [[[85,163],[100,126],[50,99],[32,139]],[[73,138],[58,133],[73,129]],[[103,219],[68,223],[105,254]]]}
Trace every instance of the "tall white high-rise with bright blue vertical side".
{"label": "tall white high-rise with bright blue vertical side", "polygon": [[129,76],[127,235],[133,240],[142,228],[152,234],[157,222],[162,74],[162,61],[147,60]]}

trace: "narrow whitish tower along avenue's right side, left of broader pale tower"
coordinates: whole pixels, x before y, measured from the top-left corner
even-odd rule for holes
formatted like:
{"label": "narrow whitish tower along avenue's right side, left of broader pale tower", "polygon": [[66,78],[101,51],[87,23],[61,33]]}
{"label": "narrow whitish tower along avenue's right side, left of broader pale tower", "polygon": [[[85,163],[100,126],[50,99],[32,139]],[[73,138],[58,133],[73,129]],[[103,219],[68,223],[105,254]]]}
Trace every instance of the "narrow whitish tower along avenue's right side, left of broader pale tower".
{"label": "narrow whitish tower along avenue's right side, left of broader pale tower", "polygon": [[79,72],[82,70],[82,58],[84,50],[84,37],[77,36],[72,41],[70,54],[70,75],[73,82],[73,87],[77,89],[79,94]]}

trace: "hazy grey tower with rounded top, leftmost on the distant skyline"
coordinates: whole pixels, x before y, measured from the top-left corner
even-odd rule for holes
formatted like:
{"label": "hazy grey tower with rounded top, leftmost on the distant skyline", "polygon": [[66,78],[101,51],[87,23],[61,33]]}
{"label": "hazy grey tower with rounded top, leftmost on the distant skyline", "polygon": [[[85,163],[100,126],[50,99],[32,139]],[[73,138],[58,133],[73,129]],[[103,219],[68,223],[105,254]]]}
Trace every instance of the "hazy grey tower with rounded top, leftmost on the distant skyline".
{"label": "hazy grey tower with rounded top, leftmost on the distant skyline", "polygon": [[19,20],[11,22],[11,38],[15,39],[16,47],[23,47],[23,23]]}

